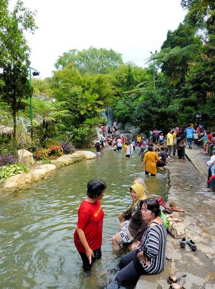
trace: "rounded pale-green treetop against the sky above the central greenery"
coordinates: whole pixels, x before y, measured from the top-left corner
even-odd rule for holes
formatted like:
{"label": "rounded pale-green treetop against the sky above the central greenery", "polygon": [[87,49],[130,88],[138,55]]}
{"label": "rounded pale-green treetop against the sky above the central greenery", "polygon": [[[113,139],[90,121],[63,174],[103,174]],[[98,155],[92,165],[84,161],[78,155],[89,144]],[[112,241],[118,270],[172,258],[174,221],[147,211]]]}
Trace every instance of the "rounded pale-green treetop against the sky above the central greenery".
{"label": "rounded pale-green treetop against the sky above the central greenery", "polygon": [[74,64],[82,75],[87,72],[91,75],[106,74],[123,64],[123,59],[120,53],[112,49],[97,49],[91,46],[82,51],[71,49],[69,52],[64,52],[56,61],[55,67],[62,69],[68,64]]}

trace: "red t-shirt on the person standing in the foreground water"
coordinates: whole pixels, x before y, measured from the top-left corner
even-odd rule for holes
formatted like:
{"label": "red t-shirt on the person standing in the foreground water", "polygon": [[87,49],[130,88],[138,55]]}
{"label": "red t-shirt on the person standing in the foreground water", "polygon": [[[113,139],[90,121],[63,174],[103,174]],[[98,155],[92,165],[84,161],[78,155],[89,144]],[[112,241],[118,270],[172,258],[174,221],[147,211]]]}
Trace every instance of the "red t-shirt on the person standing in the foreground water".
{"label": "red t-shirt on the person standing in the foreground water", "polygon": [[[77,227],[84,231],[87,242],[91,250],[96,250],[102,245],[102,228],[104,211],[101,207],[100,201],[95,203],[89,203],[83,201],[78,209]],[[77,251],[80,253],[86,253],[84,246],[82,245],[77,230],[74,233],[74,242]]]}

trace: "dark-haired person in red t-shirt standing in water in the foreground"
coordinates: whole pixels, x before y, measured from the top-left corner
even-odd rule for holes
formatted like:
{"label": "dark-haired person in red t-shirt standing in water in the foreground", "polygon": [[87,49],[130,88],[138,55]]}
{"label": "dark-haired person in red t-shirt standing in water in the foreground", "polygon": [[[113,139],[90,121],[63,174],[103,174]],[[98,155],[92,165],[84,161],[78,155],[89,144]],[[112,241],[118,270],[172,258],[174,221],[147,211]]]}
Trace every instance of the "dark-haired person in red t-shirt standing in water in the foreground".
{"label": "dark-haired person in red t-shirt standing in water in the foreground", "polygon": [[83,262],[84,269],[91,269],[93,262],[102,257],[102,228],[104,211],[100,200],[104,196],[106,184],[100,179],[92,179],[87,184],[87,197],[78,209],[77,228],[74,242]]}

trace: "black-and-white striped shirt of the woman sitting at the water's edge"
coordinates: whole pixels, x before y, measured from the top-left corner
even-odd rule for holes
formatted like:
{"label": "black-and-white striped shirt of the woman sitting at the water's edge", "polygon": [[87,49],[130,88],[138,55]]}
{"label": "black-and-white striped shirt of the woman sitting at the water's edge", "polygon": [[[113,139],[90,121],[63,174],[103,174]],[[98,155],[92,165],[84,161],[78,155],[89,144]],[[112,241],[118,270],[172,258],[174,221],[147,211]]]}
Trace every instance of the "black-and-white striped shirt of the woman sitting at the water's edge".
{"label": "black-and-white striped shirt of the woman sitting at the water's edge", "polygon": [[164,224],[154,223],[156,224],[154,226],[148,225],[139,246],[139,252],[143,251],[143,255],[150,263],[150,266],[142,265],[148,274],[161,272],[166,259],[167,230]]}

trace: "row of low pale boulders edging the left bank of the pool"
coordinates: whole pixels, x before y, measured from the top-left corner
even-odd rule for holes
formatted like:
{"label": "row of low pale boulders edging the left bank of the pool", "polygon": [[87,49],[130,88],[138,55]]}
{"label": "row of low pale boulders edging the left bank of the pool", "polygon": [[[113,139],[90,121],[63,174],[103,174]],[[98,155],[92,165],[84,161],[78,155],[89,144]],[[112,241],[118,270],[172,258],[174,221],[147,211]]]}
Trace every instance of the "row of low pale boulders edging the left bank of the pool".
{"label": "row of low pale boulders edging the left bank of the pool", "polygon": [[0,196],[6,196],[19,190],[29,189],[35,182],[48,177],[50,172],[53,172],[64,165],[82,161],[83,159],[90,160],[94,158],[96,158],[96,155],[93,152],[80,150],[72,155],[63,155],[56,160],[52,160],[50,164],[31,165],[29,173],[18,174],[6,179],[0,189]]}

